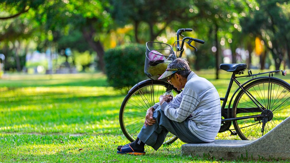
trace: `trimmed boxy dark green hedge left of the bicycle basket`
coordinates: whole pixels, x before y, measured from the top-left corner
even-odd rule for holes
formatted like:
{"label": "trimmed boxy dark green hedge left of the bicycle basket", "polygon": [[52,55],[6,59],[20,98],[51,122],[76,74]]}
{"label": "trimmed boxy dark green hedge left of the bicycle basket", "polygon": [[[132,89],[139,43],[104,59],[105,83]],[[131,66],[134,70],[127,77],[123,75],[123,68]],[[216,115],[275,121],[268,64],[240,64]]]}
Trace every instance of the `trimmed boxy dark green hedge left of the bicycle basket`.
{"label": "trimmed boxy dark green hedge left of the bicycle basket", "polygon": [[109,85],[123,88],[144,80],[145,51],[146,46],[140,44],[107,50],[104,59]]}

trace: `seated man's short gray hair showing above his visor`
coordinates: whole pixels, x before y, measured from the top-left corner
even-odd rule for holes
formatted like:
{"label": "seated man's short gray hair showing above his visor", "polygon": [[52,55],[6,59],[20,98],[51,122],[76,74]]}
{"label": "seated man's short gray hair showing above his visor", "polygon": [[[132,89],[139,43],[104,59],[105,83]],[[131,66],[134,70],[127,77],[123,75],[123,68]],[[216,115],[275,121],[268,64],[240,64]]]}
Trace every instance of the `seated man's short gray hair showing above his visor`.
{"label": "seated man's short gray hair showing above his visor", "polygon": [[176,74],[179,74],[184,78],[187,78],[187,76],[191,73],[191,69],[189,68],[186,58],[176,58],[174,61],[168,64],[167,68],[185,68],[184,71],[176,72]]}

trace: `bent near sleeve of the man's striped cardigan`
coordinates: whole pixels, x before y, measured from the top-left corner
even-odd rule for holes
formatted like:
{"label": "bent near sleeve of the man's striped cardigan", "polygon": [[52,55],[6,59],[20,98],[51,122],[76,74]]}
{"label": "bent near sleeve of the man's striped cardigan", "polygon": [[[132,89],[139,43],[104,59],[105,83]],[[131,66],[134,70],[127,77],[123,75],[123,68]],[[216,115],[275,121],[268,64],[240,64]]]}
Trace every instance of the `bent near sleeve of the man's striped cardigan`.
{"label": "bent near sleeve of the man's striped cardigan", "polygon": [[200,102],[200,98],[192,88],[186,87],[182,92],[183,96],[179,108],[174,109],[166,102],[161,106],[161,110],[164,111],[164,114],[169,119],[177,122],[183,122],[196,109],[196,106]]}

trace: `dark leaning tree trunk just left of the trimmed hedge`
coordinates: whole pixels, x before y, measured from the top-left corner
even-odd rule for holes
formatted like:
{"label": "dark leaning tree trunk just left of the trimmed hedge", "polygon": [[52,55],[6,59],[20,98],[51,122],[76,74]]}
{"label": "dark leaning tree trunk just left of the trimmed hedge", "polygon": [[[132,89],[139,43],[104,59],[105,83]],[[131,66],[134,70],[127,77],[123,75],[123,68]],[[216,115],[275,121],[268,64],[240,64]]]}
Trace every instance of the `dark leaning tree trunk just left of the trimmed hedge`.
{"label": "dark leaning tree trunk just left of the trimmed hedge", "polygon": [[99,57],[98,60],[98,68],[105,73],[105,63],[104,63],[104,48],[101,44],[100,41],[94,41],[92,36],[94,31],[90,30],[88,32],[87,29],[83,29],[83,36],[86,39],[86,41],[88,42],[88,44],[90,45],[90,47],[92,47],[93,50],[95,50],[95,52],[97,52],[97,56]]}

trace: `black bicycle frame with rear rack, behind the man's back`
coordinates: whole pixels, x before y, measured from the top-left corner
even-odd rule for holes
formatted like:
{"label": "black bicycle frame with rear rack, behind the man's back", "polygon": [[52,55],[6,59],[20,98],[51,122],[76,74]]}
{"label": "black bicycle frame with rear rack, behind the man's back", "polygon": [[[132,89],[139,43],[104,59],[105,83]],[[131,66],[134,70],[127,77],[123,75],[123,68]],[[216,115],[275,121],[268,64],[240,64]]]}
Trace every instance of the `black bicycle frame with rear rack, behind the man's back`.
{"label": "black bicycle frame with rear rack, behind the man's back", "polygon": [[[258,80],[258,79],[261,79],[261,78],[269,78],[269,79],[273,78],[273,77],[271,77],[271,74],[273,76],[273,73],[283,72],[283,71],[282,70],[276,70],[276,71],[269,71],[269,72],[263,72],[263,73],[258,73],[258,74],[251,74],[251,70],[249,70],[249,72],[248,72],[249,75],[235,76],[236,74],[244,74],[243,72],[244,72],[244,70],[243,71],[238,71],[238,72],[233,72],[233,74],[231,76],[231,79],[230,79],[229,87],[228,87],[228,89],[226,91],[226,95],[225,95],[224,98],[220,98],[220,100],[223,101],[223,104],[222,104],[222,107],[221,107],[221,113],[225,113],[224,109],[225,109],[225,106],[226,106],[226,102],[228,101],[229,93],[231,91],[231,87],[233,85],[233,82],[235,82],[239,86],[239,88],[235,91],[235,93],[233,94],[233,96],[232,96],[232,98],[231,98],[231,100],[229,102],[229,107],[228,107],[228,109],[226,111],[227,118],[222,119],[222,122],[231,122],[231,121],[235,121],[235,120],[242,120],[242,119],[249,119],[249,118],[264,118],[265,114],[264,115],[259,114],[259,115],[255,115],[255,116],[244,116],[244,117],[238,117],[238,118],[231,118],[231,115],[230,115],[230,111],[232,110],[232,108],[230,107],[231,106],[231,101],[233,100],[233,97],[235,96],[235,94],[239,90],[242,90],[249,97],[249,99],[252,100],[252,102],[254,102],[254,104],[257,106],[257,108],[252,108],[252,111],[257,111],[257,112],[261,111],[262,112],[264,109],[262,109],[260,106],[263,106],[263,105],[253,95],[251,95],[248,91],[245,91],[243,86],[246,85],[247,83],[250,83],[253,80]],[[262,74],[268,74],[268,73],[269,73],[269,77],[261,76],[261,77],[254,78],[254,76],[258,76],[258,75],[262,75]],[[236,78],[242,78],[242,77],[253,77],[253,79],[248,80],[244,84],[241,84]],[[275,78],[275,79],[284,82],[283,80],[281,80],[279,78]]]}

